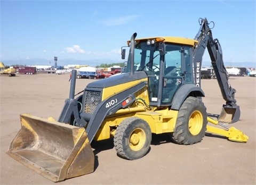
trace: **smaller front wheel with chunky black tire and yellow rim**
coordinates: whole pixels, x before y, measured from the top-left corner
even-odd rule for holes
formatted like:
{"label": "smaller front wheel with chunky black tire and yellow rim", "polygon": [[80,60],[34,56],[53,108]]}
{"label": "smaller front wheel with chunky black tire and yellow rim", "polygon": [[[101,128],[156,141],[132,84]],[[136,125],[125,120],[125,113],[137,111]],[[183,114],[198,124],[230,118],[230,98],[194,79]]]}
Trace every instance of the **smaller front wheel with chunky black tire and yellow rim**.
{"label": "smaller front wheel with chunky black tire and yellow rim", "polygon": [[116,129],[114,145],[117,155],[130,160],[141,158],[147,154],[151,139],[148,123],[138,117],[129,117]]}

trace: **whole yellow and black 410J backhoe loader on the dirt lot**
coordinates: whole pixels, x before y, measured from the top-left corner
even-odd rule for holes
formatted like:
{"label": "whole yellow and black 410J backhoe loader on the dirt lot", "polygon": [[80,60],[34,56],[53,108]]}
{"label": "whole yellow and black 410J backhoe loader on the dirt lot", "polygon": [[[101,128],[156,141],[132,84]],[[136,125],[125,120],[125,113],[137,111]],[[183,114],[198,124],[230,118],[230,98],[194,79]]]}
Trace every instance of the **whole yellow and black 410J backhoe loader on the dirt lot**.
{"label": "whole yellow and black 410J backhoe loader on the dirt lot", "polygon": [[[246,142],[249,138],[242,131],[227,127],[239,120],[240,110],[219,41],[212,38],[206,19],[199,19],[199,24],[194,39],[136,39],[137,33],[133,33],[125,46],[130,47],[125,72],[93,81],[77,95],[73,70],[69,98],[58,121],[21,114],[21,130],[7,154],[59,182],[94,171],[93,140],[114,138],[118,156],[130,160],[147,154],[152,133],[170,133],[180,145],[201,142],[205,132]],[[201,66],[206,47],[226,101],[216,118],[207,114],[202,102]],[[126,49],[121,51],[124,59]],[[139,68],[135,71],[134,66]]]}

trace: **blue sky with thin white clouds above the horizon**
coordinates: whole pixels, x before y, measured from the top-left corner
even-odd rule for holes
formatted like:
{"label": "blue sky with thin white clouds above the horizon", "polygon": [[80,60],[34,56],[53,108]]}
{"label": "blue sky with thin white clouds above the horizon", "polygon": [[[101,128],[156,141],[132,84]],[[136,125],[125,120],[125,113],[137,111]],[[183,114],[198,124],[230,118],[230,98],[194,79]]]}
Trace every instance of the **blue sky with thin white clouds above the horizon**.
{"label": "blue sky with thin white clouds above the horizon", "polygon": [[[251,1],[1,1],[0,60],[11,64],[123,62],[138,38],[194,38],[198,18],[214,21],[224,61],[255,62],[256,4]],[[203,57],[210,61],[210,57]]]}

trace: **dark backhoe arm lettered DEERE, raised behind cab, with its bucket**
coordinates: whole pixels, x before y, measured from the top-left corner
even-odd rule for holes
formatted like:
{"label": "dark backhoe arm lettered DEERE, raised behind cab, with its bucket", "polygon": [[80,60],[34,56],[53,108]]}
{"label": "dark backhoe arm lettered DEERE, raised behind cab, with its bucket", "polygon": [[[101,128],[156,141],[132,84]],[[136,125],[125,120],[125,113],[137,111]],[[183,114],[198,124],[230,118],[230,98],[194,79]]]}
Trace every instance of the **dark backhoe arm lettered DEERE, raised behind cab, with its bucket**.
{"label": "dark backhoe arm lettered DEERE, raised behind cab, with its bucket", "polygon": [[[239,120],[240,110],[239,106],[236,105],[235,93],[236,90],[231,87],[228,77],[228,72],[224,66],[222,58],[222,50],[218,39],[213,39],[212,31],[209,27],[210,22],[207,22],[207,19],[199,19],[201,27],[195,37],[195,40],[198,40],[198,44],[194,48],[194,71],[196,74],[196,85],[201,87],[201,67],[202,67],[202,58],[204,51],[207,47],[207,51],[211,58],[211,63],[213,70],[215,72],[221,94],[223,99],[226,100],[226,104],[223,105],[223,111],[220,114],[219,121],[230,122],[228,119],[223,118],[227,114],[231,114],[231,123],[234,123]],[[214,23],[213,23],[214,27]]]}

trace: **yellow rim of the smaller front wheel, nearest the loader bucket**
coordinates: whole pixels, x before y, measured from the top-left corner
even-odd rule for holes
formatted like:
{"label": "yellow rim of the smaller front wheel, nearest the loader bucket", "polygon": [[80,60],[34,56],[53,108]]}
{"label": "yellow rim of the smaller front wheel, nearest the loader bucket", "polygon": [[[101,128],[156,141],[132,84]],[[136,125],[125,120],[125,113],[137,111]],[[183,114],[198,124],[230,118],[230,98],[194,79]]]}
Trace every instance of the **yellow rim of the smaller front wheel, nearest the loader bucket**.
{"label": "yellow rim of the smaller front wheel, nearest the loader bucket", "polygon": [[132,131],[129,139],[130,148],[134,151],[140,150],[146,142],[146,133],[142,129]]}

